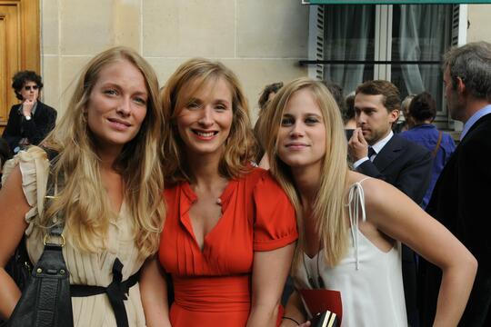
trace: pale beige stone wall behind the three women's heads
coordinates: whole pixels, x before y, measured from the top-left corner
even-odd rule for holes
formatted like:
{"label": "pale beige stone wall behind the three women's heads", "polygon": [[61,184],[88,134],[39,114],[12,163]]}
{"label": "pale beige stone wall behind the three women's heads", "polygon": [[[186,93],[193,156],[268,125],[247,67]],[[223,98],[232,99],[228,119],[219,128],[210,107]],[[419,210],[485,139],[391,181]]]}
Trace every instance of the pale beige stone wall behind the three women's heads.
{"label": "pale beige stone wall behind the three women's heads", "polygon": [[220,60],[256,118],[265,84],[306,75],[308,6],[300,0],[41,0],[44,100],[60,115],[82,66],[114,45],[135,48],[161,84],[186,59]]}

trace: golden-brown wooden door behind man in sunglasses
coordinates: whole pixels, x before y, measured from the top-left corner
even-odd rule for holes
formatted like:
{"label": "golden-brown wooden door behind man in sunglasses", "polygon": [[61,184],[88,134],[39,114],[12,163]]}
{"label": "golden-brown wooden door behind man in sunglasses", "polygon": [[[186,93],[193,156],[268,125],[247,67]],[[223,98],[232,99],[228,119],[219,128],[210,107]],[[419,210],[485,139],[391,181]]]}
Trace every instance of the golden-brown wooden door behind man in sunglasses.
{"label": "golden-brown wooden door behind man in sunglasses", "polygon": [[0,133],[10,107],[18,103],[12,76],[21,70],[40,73],[39,4],[37,0],[0,0]]}

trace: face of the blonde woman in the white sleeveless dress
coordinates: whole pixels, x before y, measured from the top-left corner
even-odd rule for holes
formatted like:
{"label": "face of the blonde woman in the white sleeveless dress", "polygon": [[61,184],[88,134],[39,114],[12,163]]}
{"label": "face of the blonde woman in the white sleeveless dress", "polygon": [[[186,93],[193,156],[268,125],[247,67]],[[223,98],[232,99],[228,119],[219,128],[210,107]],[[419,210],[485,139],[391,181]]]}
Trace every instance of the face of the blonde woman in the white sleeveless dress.
{"label": "face of the blonde woman in the white sleeveless dress", "polygon": [[320,169],[326,154],[326,125],[312,92],[290,96],[278,130],[277,154],[292,169]]}

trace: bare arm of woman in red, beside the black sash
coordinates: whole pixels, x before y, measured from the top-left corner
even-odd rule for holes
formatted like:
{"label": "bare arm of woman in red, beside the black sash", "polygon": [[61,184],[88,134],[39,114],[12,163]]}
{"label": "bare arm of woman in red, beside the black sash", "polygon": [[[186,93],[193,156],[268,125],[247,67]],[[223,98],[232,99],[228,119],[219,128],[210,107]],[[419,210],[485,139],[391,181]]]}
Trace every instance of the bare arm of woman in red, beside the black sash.
{"label": "bare arm of woman in red, beside the black sash", "polygon": [[171,325],[164,273],[155,255],[146,260],[140,275],[140,292],[148,327],[168,327]]}

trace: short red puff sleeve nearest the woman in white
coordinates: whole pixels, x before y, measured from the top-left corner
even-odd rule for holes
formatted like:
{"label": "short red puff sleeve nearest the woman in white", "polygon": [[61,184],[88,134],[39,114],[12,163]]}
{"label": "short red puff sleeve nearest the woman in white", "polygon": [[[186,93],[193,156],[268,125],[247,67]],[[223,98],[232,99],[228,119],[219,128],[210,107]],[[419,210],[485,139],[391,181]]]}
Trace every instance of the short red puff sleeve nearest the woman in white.
{"label": "short red puff sleeve nearest the woman in white", "polygon": [[254,251],[271,251],[298,238],[296,213],[288,196],[270,173],[265,172],[253,191],[256,209]]}

